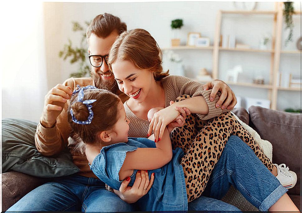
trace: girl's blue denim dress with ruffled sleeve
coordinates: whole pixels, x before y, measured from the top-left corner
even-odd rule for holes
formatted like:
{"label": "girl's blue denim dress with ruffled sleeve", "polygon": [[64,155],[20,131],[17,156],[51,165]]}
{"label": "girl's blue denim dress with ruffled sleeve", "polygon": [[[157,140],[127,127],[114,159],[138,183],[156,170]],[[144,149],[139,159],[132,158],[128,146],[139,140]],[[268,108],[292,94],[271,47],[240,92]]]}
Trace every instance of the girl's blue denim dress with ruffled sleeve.
{"label": "girl's blue denim dress with ruffled sleeve", "polygon": [[[111,188],[119,190],[122,181],[119,180],[119,171],[127,152],[137,148],[156,148],[154,141],[146,138],[128,138],[127,143],[118,143],[105,146],[94,158],[90,169]],[[149,178],[155,173],[154,183],[149,192],[137,203],[141,211],[176,211],[188,210],[186,182],[182,166],[179,161],[183,156],[180,148],[172,150],[173,157],[165,166],[149,170]],[[129,186],[132,186],[138,170],[130,176]]]}

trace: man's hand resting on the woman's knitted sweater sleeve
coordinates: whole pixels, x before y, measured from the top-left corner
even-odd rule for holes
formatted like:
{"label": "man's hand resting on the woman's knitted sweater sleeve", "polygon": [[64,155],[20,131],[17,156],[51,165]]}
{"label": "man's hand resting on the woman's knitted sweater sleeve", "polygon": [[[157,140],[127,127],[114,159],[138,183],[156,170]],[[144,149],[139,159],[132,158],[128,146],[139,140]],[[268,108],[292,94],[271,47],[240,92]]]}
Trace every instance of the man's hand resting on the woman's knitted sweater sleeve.
{"label": "man's hand resting on the woman's knitted sweater sleeve", "polygon": [[233,109],[237,104],[236,96],[231,88],[221,80],[213,80],[203,85],[205,90],[212,89],[210,101],[213,101],[218,91],[221,92],[219,100],[216,103],[216,108],[221,106],[221,109]]}

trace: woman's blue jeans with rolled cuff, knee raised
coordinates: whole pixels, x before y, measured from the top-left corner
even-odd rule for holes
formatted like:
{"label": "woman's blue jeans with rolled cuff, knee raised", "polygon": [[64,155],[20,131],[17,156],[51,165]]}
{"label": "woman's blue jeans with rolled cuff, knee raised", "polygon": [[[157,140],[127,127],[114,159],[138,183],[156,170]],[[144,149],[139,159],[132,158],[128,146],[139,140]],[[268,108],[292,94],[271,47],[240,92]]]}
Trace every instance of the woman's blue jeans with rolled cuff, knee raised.
{"label": "woman's blue jeans with rolled cuff, knee raised", "polygon": [[[200,200],[207,201],[210,199],[208,197],[219,200],[227,193],[231,185],[260,211],[267,211],[288,191],[257,158],[252,149],[235,135],[229,138],[212,171],[202,194],[206,198],[201,197],[190,202],[189,210],[218,210],[216,207],[209,209],[209,206],[206,206],[208,203],[200,202]],[[231,208],[231,206],[225,207]],[[227,211],[232,210],[227,209]]]}

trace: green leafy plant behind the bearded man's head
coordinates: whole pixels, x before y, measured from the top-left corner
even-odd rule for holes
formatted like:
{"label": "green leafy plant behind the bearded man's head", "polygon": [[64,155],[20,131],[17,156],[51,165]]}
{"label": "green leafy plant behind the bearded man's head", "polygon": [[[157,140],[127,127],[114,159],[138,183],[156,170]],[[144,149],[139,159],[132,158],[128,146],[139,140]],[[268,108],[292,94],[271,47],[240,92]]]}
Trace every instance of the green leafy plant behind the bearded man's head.
{"label": "green leafy plant behind the bearded man's head", "polygon": [[[90,22],[85,21],[85,24],[89,26]],[[71,58],[69,63],[74,64],[78,63],[79,68],[78,72],[71,73],[69,76],[74,78],[85,77],[89,75],[89,62],[87,62],[87,52],[88,47],[86,44],[86,28],[83,28],[78,22],[72,22],[72,31],[82,33],[82,41],[80,43],[80,47],[72,47],[72,42],[68,39],[68,44],[64,45],[64,49],[59,51],[59,57],[66,60],[67,58]],[[85,41],[85,42],[84,42]]]}

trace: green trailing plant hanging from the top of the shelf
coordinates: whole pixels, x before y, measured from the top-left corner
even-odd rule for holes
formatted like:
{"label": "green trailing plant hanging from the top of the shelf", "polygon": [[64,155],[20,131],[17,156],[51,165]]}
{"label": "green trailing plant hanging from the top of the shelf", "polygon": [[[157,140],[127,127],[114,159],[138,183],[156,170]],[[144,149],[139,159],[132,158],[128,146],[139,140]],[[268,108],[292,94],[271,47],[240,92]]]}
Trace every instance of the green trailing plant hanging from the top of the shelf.
{"label": "green trailing plant hanging from the top of the shelf", "polygon": [[289,34],[287,39],[285,40],[285,46],[287,46],[288,42],[293,41],[293,14],[295,14],[294,2],[283,2],[284,3],[284,10],[283,16],[285,18],[285,29],[289,29]]}

